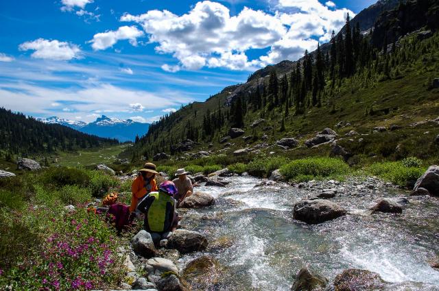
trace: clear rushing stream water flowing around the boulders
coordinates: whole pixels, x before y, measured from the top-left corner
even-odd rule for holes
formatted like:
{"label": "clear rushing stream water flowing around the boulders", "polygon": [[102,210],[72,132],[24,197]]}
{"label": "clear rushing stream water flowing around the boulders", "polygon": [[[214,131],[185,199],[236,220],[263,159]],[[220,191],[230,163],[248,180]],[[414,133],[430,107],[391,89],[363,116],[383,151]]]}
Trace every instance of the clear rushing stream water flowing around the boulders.
{"label": "clear rushing stream water flowing around the boulders", "polygon": [[[439,199],[410,199],[403,214],[366,210],[383,197],[407,197],[397,190],[370,190],[361,197],[337,195],[332,201],[350,214],[320,225],[292,219],[294,204],[309,191],[287,184],[255,187],[252,177],[230,177],[226,188],[199,187],[216,199],[214,206],[189,210],[186,229],[204,233],[223,248],[185,255],[184,266],[200,255],[215,257],[227,269],[223,285],[213,290],[289,290],[304,266],[330,281],[346,268],[379,273],[385,281],[431,284],[439,290],[439,272],[427,260],[439,255]],[[404,289],[401,289],[404,290]],[[416,290],[416,288],[411,289]]]}

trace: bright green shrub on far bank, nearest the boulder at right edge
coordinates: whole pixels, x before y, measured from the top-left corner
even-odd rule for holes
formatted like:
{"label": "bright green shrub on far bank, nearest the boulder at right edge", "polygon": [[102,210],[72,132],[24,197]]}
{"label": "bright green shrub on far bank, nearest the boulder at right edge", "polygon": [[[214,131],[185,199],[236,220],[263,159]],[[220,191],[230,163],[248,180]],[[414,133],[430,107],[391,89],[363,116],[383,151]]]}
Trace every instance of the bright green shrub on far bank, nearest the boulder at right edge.
{"label": "bright green shrub on far bank, nearest the boulder at right edge", "polygon": [[377,175],[393,184],[412,188],[416,180],[423,175],[425,168],[405,166],[401,162],[379,162],[367,168],[372,175]]}

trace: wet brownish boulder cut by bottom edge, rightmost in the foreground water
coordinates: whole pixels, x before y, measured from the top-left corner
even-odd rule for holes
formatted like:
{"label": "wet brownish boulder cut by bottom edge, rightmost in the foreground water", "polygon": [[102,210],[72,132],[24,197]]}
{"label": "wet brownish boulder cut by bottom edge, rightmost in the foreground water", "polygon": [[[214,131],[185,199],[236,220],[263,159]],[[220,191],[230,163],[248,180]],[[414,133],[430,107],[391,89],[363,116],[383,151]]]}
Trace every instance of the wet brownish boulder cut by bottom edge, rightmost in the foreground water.
{"label": "wet brownish boulder cut by bottom edge, rightmost in the foreground water", "polygon": [[386,282],[380,275],[368,270],[348,269],[337,275],[333,282],[337,291],[383,290]]}

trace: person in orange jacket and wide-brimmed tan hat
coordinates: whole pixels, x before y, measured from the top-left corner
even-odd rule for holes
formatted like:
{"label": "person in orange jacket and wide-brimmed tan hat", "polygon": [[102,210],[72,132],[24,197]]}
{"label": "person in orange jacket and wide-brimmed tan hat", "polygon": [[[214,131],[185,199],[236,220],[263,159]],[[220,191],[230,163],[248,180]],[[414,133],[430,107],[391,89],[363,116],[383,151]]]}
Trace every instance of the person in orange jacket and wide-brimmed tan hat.
{"label": "person in orange jacket and wide-brimmed tan hat", "polygon": [[130,212],[135,212],[139,201],[150,192],[158,190],[156,175],[158,174],[156,165],[146,163],[143,168],[139,170],[139,175],[132,181],[131,184],[131,205]]}

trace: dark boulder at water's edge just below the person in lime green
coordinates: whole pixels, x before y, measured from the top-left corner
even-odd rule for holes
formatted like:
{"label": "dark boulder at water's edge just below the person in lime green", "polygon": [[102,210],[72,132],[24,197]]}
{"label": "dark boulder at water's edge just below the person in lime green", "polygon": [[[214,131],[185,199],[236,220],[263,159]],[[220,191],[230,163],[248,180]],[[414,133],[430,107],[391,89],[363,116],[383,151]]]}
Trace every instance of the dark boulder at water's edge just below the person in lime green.
{"label": "dark boulder at water's edge just below the person in lime green", "polygon": [[168,249],[176,249],[180,253],[204,251],[207,247],[207,239],[198,231],[177,229],[169,236],[167,247]]}

